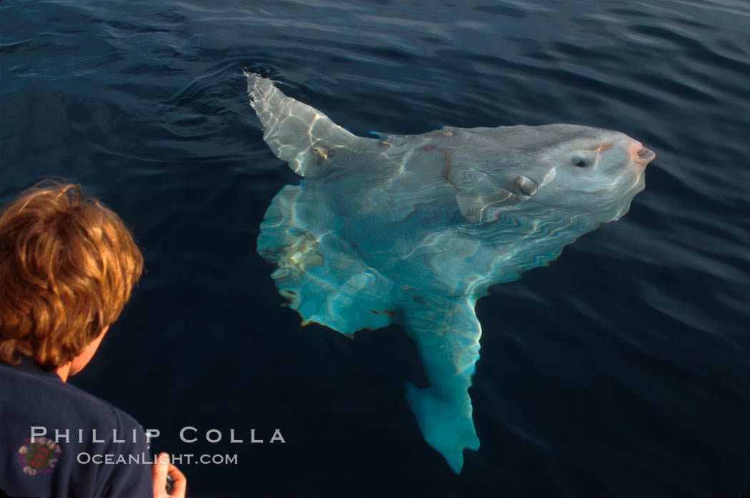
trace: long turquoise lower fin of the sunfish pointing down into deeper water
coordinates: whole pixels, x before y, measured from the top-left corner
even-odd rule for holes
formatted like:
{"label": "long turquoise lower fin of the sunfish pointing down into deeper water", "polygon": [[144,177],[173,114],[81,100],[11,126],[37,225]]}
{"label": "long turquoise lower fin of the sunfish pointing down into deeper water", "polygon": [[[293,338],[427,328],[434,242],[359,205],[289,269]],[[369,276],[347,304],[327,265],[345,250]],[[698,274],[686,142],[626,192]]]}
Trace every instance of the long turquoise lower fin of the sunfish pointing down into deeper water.
{"label": "long turquoise lower fin of the sunfish pointing down into deeper water", "polygon": [[481,336],[475,300],[420,301],[402,310],[401,324],[417,346],[431,386],[419,388],[407,382],[406,397],[425,440],[460,473],[463,449],[479,449],[468,392]]}

